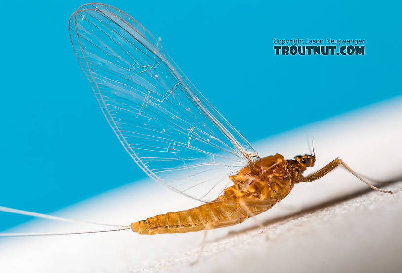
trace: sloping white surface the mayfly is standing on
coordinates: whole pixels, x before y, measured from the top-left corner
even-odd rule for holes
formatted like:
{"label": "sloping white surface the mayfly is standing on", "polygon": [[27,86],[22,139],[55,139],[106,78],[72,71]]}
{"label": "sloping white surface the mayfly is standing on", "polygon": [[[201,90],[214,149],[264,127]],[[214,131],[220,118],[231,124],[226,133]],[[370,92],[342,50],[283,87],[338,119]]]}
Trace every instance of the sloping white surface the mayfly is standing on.
{"label": "sloping white surface the mayfly is standing on", "polygon": [[[314,136],[316,167],[340,157],[378,180],[402,176],[402,99],[355,111],[254,143],[260,156],[308,152]],[[307,171],[310,173],[311,171]],[[208,232],[144,236],[132,231],[0,240],[0,272],[398,272],[402,267],[402,182],[368,187],[339,169],[298,184],[280,204],[252,219]],[[363,191],[362,190],[368,190]],[[350,194],[360,192],[351,198]],[[343,198],[343,199],[342,199]],[[329,203],[328,203],[329,202]],[[332,202],[332,203],[331,203]],[[146,180],[76,204],[58,213],[88,221],[127,224],[200,203]],[[99,227],[35,221],[19,232]]]}

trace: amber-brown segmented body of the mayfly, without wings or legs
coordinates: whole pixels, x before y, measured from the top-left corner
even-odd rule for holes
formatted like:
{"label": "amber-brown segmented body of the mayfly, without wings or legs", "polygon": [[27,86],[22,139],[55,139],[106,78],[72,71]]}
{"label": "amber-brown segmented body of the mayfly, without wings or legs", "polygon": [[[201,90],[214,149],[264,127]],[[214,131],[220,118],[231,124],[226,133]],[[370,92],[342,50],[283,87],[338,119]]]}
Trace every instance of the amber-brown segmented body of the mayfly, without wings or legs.
{"label": "amber-brown segmented body of the mayfly, without wings or legs", "polygon": [[230,176],[234,185],[214,202],[150,217],[132,223],[131,228],[139,234],[183,233],[241,223],[285,198],[293,184],[302,182],[302,172],[309,167],[303,165],[278,153],[264,157]]}

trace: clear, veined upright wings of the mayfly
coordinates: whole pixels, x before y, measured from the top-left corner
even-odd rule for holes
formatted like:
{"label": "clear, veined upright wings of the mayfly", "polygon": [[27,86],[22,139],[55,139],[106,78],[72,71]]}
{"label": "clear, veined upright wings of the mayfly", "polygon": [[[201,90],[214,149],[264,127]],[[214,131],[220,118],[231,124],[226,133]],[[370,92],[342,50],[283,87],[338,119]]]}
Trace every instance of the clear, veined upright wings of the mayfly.
{"label": "clear, veined upright wings of the mayfly", "polygon": [[204,202],[258,157],[142,25],[104,4],[71,15],[78,61],[120,142],[150,177]]}

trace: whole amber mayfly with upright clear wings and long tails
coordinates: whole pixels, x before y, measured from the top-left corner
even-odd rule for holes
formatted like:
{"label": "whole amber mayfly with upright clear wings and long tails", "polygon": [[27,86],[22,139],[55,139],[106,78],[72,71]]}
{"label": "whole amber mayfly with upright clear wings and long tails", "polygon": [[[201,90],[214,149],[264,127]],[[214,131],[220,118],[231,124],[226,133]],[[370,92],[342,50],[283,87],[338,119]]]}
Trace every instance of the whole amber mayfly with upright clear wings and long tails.
{"label": "whole amber mayfly with upright clear wings and long tails", "polygon": [[291,160],[280,154],[261,158],[194,87],[160,41],[123,11],[83,5],[71,15],[69,30],[81,68],[125,150],[157,182],[204,202],[103,231],[182,233],[235,225],[272,208],[294,184],[317,180],[339,165],[371,188],[392,193],[369,184],[339,158],[309,176],[303,172],[314,166],[313,152]]}

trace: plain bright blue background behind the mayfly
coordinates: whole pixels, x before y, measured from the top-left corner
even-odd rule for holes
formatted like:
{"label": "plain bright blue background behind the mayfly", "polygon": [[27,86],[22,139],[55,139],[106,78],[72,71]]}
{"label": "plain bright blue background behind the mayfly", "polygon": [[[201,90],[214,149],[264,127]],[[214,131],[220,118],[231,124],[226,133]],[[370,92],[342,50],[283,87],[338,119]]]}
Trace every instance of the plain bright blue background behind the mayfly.
{"label": "plain bright blue background behind the mayfly", "polygon": [[[145,177],[71,48],[68,18],[84,3],[1,6],[1,206],[52,212]],[[161,37],[250,142],[402,94],[401,9],[393,2],[106,3]],[[365,39],[366,54],[275,56],[274,38]],[[0,212],[0,230],[27,219]]]}

